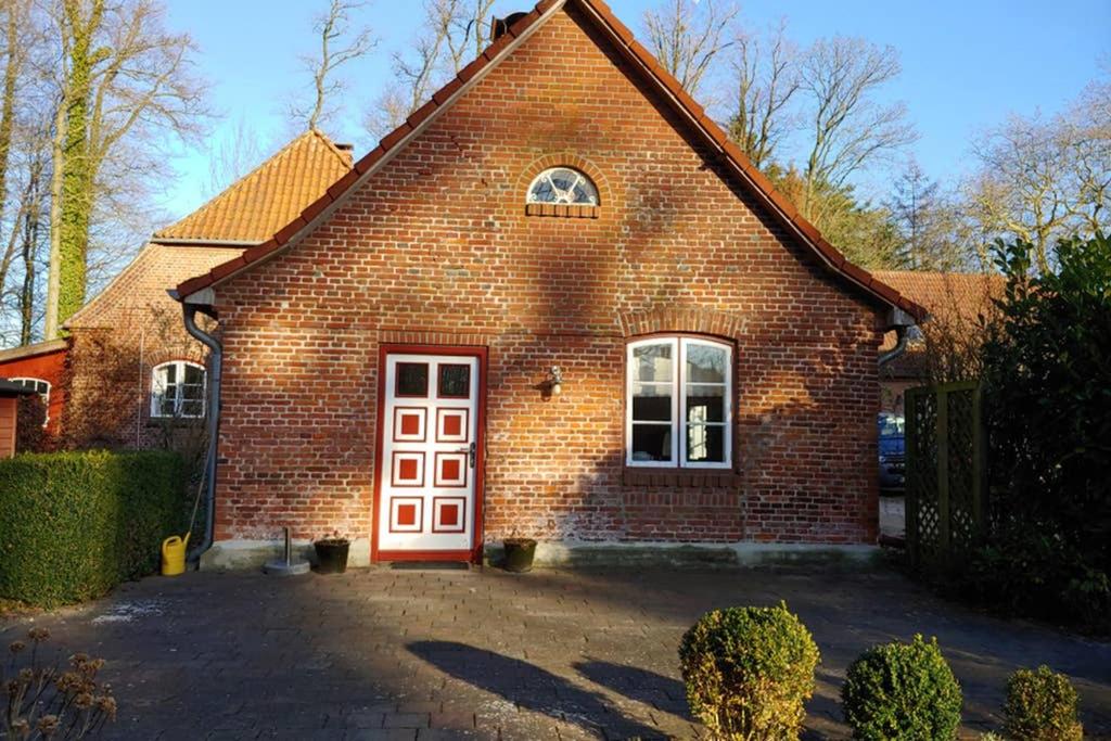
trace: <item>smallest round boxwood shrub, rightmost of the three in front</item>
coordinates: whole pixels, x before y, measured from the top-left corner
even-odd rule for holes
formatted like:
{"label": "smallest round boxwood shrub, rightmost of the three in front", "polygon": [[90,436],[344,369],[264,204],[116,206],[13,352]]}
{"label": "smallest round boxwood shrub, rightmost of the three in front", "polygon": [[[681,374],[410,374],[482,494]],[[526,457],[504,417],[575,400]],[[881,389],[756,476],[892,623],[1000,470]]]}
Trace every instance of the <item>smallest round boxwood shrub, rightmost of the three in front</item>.
{"label": "smallest round boxwood shrub, rightmost of the three in front", "polygon": [[1015,741],[1073,741],[1083,738],[1077,690],[1049,667],[1020,669],[1007,680],[1007,732]]}

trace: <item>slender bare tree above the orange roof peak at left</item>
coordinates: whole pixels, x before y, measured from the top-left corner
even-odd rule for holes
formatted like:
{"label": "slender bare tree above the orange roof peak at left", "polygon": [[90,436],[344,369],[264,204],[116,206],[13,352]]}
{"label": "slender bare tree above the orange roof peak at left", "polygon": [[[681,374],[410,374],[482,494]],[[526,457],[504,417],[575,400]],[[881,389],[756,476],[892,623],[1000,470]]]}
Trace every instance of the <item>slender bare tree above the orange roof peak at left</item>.
{"label": "slender bare tree above the orange roof peak at left", "polygon": [[307,107],[293,108],[293,117],[304,120],[309,129],[317,131],[340,108],[340,98],[347,88],[337,70],[348,62],[366,57],[378,40],[370,28],[353,28],[351,16],[367,7],[358,0],[330,0],[328,10],[313,22],[312,30],[319,38],[320,52],[317,57],[304,58],[306,67],[312,73],[313,99]]}

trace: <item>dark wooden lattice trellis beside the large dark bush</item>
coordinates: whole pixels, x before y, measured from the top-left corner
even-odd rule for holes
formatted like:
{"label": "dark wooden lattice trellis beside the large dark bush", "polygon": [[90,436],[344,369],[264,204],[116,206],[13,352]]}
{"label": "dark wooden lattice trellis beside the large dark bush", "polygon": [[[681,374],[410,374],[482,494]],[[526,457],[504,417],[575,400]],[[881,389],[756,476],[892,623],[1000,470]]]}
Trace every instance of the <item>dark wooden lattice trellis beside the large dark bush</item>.
{"label": "dark wooden lattice trellis beside the large dark bush", "polygon": [[975,381],[911,389],[907,409],[907,550],[919,568],[960,564],[984,529],[987,463]]}

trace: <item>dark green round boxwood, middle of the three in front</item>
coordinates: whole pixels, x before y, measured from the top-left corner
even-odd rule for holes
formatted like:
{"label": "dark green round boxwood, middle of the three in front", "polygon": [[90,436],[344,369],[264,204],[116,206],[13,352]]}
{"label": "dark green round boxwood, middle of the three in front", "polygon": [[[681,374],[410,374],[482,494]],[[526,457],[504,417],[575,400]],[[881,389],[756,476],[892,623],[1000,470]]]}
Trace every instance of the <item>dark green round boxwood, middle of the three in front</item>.
{"label": "dark green round boxwood, middle of the three in front", "polygon": [[853,738],[949,741],[961,722],[961,687],[938,640],[915,635],[865,651],[841,688]]}

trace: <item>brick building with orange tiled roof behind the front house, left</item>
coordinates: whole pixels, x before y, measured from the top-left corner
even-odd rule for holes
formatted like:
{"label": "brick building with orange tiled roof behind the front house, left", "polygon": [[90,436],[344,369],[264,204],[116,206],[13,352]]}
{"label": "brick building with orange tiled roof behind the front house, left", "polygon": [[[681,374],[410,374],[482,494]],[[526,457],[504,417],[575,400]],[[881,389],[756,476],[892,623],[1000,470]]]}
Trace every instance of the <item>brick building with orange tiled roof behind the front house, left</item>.
{"label": "brick building with orange tiled roof behind the front house, left", "polygon": [[351,167],[350,148],[319,132],[297,137],[158,231],[66,322],[67,339],[0,351],[0,375],[49,400],[48,431],[67,445],[200,442],[207,351],[186,333],[167,288],[266,241]]}

